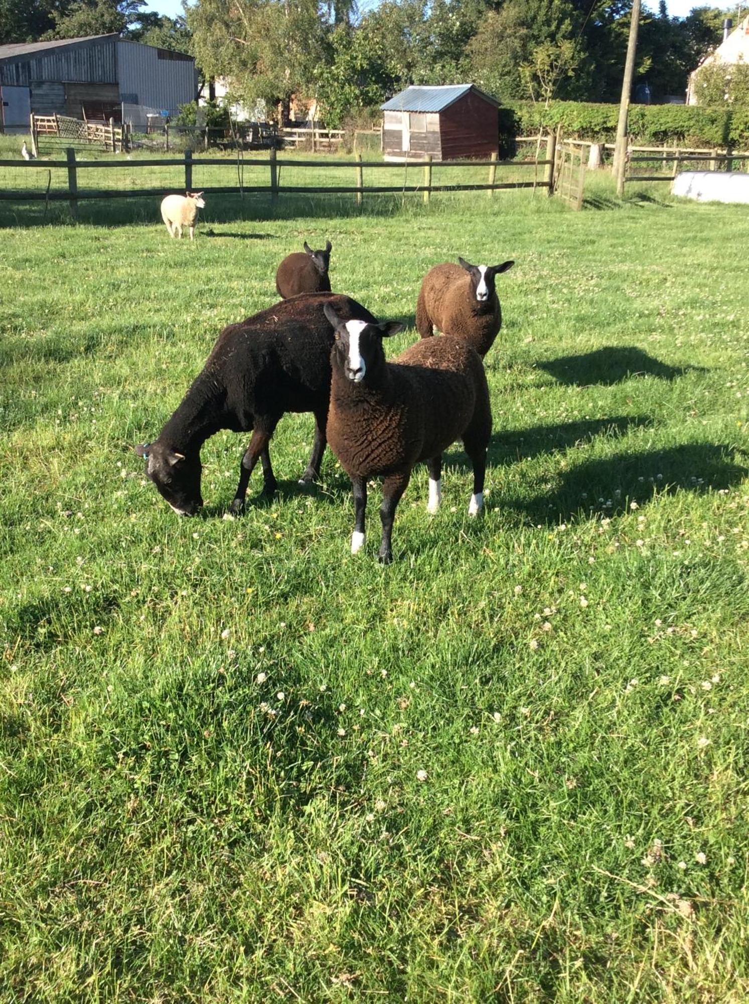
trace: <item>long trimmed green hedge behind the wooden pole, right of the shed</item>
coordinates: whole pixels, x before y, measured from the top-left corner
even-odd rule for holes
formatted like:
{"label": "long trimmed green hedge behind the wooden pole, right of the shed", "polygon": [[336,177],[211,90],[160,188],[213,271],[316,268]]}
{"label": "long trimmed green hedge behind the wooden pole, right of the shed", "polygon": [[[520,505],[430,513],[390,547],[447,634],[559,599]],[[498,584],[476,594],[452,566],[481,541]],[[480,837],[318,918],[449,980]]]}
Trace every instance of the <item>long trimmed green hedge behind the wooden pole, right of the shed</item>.
{"label": "long trimmed green hedge behind the wooden pole, right of the shed", "polygon": [[[578,140],[612,143],[616,136],[617,104],[552,101],[548,108],[518,101],[500,108],[503,144],[515,136],[533,136],[540,126],[561,123],[564,135]],[[654,146],[749,147],[749,110],[706,108],[695,104],[633,104],[630,135]]]}

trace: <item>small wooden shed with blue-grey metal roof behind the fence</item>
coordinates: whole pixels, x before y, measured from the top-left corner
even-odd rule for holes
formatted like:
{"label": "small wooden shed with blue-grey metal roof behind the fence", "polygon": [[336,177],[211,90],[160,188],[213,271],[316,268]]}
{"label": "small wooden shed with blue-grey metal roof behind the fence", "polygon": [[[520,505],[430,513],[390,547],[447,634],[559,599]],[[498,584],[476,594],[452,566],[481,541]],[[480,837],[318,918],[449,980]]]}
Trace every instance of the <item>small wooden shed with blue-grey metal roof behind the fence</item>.
{"label": "small wooden shed with blue-grey metal roof behind the fence", "polygon": [[386,161],[489,157],[499,148],[499,102],[472,83],[412,86],[381,105]]}

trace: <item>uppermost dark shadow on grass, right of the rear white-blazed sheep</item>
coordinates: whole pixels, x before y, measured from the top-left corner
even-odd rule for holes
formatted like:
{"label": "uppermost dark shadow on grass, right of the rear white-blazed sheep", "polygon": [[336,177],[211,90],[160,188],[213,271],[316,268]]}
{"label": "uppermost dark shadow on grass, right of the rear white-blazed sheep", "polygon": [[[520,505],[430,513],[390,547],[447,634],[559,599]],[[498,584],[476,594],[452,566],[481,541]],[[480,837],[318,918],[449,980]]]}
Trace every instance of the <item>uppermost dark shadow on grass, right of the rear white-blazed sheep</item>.
{"label": "uppermost dark shadow on grass, right of the rear white-blazed sheep", "polygon": [[610,386],[630,376],[657,376],[673,381],[690,371],[704,371],[700,366],[670,366],[635,345],[620,348],[608,345],[582,355],[561,355],[557,359],[537,362],[539,369],[560,384],[587,387],[591,384]]}

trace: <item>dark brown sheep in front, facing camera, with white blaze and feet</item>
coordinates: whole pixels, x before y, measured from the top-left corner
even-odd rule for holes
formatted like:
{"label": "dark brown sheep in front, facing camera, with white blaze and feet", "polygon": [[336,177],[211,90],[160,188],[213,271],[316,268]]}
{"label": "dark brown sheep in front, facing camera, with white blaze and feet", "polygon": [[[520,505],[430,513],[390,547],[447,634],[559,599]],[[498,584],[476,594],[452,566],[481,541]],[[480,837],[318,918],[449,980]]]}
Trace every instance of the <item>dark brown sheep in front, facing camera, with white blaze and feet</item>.
{"label": "dark brown sheep in front, facing camera, with white blaze and feet", "polygon": [[468,511],[476,516],[483,508],[492,431],[486,374],[475,349],[450,335],[417,341],[387,362],[383,338],[397,334],[403,324],[345,320],[336,316],[332,304],[325,305],[325,313],[335,325],[327,435],[353,487],[351,553],[364,543],[366,482],[382,476],[380,560],[387,564],[393,559],[396,506],[414,465],[427,461],[429,511],[436,512],[442,495],[442,454],[457,439],[463,440],[473,464]]}

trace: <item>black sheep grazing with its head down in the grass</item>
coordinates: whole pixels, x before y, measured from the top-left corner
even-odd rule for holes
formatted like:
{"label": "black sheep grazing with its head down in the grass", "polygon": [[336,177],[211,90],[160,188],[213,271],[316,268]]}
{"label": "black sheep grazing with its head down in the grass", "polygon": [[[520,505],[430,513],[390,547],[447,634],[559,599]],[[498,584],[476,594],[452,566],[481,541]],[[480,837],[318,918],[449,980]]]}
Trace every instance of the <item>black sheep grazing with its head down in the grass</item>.
{"label": "black sheep grazing with its head down in the grass", "polygon": [[323,309],[327,305],[334,307],[336,316],[377,323],[349,296],[313,293],[282,300],[239,324],[229,324],[159,438],[136,447],[136,453],[148,459],[148,476],[175,512],[192,516],[203,505],[200,450],[220,429],[252,431],[232,512],[242,509],[258,458],[263,491],[272,494],[276,479],[268,444],[286,412],[314,415],[312,455],[301,483],[317,477],[326,442],[334,338]]}

